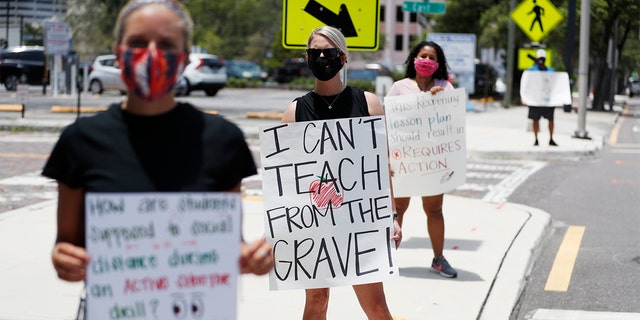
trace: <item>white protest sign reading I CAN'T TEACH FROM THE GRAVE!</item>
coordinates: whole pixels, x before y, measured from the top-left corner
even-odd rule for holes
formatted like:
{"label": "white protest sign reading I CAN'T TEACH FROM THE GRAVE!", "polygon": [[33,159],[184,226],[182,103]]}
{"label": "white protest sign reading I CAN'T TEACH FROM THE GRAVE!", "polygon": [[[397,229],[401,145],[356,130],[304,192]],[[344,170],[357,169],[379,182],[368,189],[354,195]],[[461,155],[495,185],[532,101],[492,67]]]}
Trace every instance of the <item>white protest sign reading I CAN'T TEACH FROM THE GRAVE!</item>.
{"label": "white protest sign reading I CAN'T TEACH FROM THE GRAVE!", "polygon": [[383,117],[260,129],[270,288],[398,276]]}

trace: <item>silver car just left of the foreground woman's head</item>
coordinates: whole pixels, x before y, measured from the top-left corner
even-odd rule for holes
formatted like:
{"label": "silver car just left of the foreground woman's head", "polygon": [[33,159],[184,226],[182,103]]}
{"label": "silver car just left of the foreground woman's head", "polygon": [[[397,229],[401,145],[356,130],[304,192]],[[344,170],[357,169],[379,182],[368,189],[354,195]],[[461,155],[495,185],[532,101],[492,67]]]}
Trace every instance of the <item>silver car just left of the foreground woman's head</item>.
{"label": "silver car just left of the foreground woman's head", "polygon": [[89,92],[101,94],[105,90],[118,90],[122,94],[127,92],[126,85],[120,79],[114,54],[96,57],[89,69]]}

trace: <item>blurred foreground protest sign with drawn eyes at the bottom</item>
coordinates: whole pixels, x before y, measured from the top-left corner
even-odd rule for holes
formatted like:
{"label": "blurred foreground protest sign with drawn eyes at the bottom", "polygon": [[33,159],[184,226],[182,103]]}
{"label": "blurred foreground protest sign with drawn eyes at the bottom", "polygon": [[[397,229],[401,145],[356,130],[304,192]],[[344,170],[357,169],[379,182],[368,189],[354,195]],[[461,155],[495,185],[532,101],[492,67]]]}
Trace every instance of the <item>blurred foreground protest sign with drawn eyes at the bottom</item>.
{"label": "blurred foreground protest sign with drawn eyes at the bottom", "polygon": [[235,319],[238,193],[88,193],[87,319]]}

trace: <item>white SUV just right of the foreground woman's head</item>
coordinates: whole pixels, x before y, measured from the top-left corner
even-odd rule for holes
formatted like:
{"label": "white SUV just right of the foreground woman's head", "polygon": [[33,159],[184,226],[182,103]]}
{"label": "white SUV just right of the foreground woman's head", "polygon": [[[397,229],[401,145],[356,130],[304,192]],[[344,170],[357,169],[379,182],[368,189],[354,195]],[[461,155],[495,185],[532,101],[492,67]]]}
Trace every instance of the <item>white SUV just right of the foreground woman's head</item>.
{"label": "white SUV just right of the foreground woman's head", "polygon": [[189,95],[194,90],[204,90],[207,96],[215,96],[227,85],[227,71],[222,60],[208,53],[192,53],[182,74]]}

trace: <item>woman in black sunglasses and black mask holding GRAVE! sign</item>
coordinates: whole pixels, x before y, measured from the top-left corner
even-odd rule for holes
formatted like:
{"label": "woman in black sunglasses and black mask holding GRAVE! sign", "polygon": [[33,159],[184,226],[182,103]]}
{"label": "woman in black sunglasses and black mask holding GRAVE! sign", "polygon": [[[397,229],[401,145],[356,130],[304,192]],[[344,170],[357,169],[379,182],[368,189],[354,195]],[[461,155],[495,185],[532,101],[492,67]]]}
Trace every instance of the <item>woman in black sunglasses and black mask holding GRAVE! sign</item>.
{"label": "woman in black sunglasses and black mask holding GRAVE! sign", "polygon": [[[378,97],[347,86],[338,74],[347,63],[347,43],[340,30],[320,27],[307,42],[307,64],[316,78],[315,89],[296,98],[284,111],[283,123],[383,115]],[[395,212],[395,211],[394,211]],[[394,215],[391,240],[400,245],[402,233]],[[368,319],[391,320],[382,282],[354,285],[353,290]],[[302,319],[326,319],[329,288],[306,289]]]}

